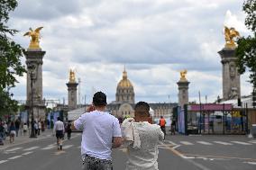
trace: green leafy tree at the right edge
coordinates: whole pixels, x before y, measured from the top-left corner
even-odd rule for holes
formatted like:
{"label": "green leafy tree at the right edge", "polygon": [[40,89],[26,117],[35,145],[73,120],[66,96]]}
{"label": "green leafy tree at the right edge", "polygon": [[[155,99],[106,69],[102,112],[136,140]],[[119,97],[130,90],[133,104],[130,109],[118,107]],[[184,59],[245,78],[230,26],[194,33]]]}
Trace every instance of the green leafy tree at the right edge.
{"label": "green leafy tree at the right edge", "polygon": [[237,66],[240,74],[246,69],[250,71],[250,83],[256,89],[256,0],[245,0],[242,11],[246,13],[245,25],[252,32],[248,37],[237,41],[236,49]]}

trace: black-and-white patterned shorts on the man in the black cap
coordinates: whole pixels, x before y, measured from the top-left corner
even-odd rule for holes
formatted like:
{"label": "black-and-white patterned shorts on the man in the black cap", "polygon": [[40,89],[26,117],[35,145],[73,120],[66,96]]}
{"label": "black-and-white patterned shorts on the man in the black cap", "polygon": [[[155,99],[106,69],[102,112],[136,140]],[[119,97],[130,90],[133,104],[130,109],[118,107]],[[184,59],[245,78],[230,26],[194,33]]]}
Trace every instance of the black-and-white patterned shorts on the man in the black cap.
{"label": "black-and-white patterned shorts on the man in the black cap", "polygon": [[83,158],[83,170],[113,170],[112,161],[86,155]]}

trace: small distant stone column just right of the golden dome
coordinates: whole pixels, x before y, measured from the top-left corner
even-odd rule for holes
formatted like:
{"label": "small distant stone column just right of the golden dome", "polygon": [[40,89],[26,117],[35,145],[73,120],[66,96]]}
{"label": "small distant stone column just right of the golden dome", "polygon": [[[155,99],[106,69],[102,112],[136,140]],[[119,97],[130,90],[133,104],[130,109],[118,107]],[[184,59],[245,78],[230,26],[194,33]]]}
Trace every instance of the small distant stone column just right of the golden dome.
{"label": "small distant stone column just right of the golden dome", "polygon": [[184,107],[188,103],[188,85],[190,82],[187,79],[180,79],[178,85],[178,105]]}

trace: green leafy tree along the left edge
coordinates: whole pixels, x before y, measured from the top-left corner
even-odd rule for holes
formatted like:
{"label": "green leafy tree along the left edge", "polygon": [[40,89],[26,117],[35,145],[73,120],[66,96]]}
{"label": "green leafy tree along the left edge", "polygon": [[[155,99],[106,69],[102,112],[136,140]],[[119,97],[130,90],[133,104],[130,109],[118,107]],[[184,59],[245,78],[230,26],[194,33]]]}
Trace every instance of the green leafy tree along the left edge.
{"label": "green leafy tree along the left edge", "polygon": [[0,115],[17,110],[9,91],[18,83],[16,77],[26,71],[21,62],[23,48],[12,40],[17,31],[6,25],[17,5],[16,0],[0,0]]}

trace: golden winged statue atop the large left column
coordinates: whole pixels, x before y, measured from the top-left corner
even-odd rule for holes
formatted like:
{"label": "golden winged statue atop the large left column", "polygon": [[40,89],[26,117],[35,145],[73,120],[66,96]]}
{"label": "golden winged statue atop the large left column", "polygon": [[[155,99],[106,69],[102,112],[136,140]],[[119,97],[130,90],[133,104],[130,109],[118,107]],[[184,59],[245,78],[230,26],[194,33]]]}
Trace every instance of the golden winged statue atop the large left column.
{"label": "golden winged statue atop the large left column", "polygon": [[31,37],[31,43],[29,49],[41,49],[39,46],[40,31],[43,27],[38,27],[34,31],[30,28],[30,31],[27,31],[23,36]]}

